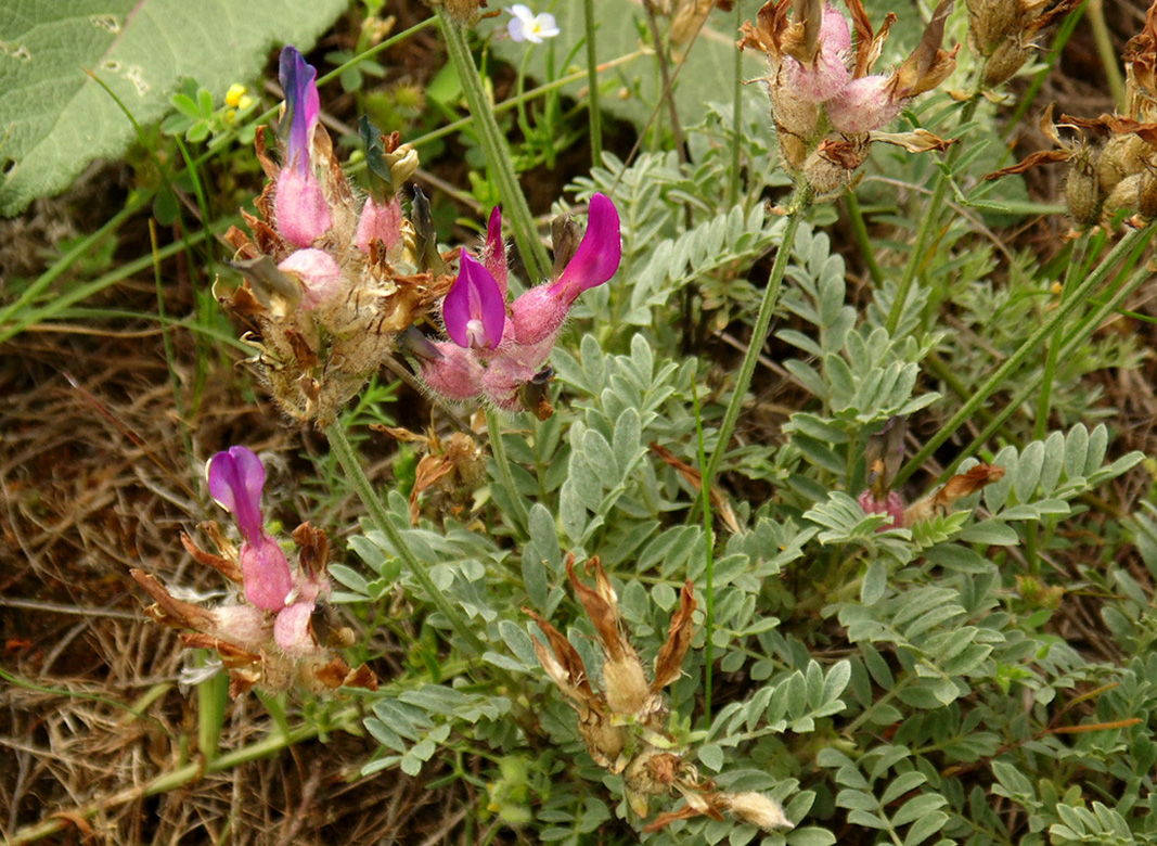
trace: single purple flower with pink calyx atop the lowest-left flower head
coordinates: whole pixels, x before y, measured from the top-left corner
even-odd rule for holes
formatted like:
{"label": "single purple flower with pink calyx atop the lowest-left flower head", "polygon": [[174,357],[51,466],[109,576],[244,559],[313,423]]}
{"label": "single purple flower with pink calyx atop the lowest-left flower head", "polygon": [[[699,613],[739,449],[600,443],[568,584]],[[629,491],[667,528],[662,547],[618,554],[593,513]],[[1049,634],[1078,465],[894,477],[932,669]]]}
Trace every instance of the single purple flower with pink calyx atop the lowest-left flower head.
{"label": "single purple flower with pink calyx atop the lowest-left flower head", "polygon": [[208,464],[209,495],[237,520],[243,543],[241,573],[245,598],[266,611],[280,611],[294,588],[289,561],[278,543],[265,534],[261,488],[265,466],[246,447],[218,453]]}

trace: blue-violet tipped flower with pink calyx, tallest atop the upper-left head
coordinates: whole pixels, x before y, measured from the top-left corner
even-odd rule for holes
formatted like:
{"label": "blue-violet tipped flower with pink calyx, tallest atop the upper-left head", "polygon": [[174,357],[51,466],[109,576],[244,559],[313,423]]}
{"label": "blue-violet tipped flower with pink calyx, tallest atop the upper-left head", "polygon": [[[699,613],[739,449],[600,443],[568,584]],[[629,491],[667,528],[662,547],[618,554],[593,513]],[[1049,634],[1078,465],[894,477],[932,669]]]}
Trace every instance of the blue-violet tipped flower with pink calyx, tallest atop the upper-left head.
{"label": "blue-violet tipped flower with pink calyx, tallest atop the upper-left head", "polygon": [[281,51],[279,79],[286,93],[285,160],[273,198],[278,231],[295,247],[309,247],[331,226],[325,191],[314,172],[310,150],[322,106],[315,79],[317,71],[294,46]]}

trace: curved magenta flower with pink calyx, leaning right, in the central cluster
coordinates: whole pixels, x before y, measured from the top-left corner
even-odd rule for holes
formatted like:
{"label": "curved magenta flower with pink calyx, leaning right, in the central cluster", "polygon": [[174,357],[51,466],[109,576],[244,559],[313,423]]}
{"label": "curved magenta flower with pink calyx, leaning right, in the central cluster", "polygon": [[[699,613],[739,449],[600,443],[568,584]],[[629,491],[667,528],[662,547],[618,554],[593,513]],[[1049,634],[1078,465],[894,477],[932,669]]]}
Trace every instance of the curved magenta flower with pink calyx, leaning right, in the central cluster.
{"label": "curved magenta flower with pink calyx, leaning right, in the central cluster", "polygon": [[613,277],[621,259],[619,212],[609,197],[596,193],[590,198],[590,216],[582,243],[562,275],[553,282],[531,288],[511,307],[515,339],[531,345],[552,337],[578,295]]}

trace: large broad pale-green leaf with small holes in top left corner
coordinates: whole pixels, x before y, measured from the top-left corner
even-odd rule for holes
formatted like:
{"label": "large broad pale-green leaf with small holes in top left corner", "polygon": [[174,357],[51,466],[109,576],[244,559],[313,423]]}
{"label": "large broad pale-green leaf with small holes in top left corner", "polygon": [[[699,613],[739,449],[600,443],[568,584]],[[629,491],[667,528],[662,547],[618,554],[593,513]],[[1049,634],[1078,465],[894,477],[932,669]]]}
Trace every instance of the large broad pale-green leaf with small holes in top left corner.
{"label": "large broad pale-green leaf with small holes in top left corner", "polygon": [[98,76],[140,124],[184,78],[223,95],[277,44],[309,47],[346,0],[5,0],[0,2],[0,213],[52,194],[134,138]]}

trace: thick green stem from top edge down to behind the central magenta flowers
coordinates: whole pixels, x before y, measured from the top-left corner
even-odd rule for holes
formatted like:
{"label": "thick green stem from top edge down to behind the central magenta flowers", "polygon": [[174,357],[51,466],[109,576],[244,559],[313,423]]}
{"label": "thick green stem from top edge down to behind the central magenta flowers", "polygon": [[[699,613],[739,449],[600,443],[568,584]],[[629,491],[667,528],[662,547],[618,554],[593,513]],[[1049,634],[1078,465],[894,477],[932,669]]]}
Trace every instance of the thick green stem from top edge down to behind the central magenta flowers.
{"label": "thick green stem from top edge down to behind the central magenta flowers", "polygon": [[510,149],[494,119],[489,98],[486,96],[486,88],[482,86],[482,78],[478,74],[478,67],[474,66],[474,59],[470,53],[470,45],[466,43],[465,30],[447,17],[442,9],[437,10],[437,19],[447,52],[458,72],[462,91],[470,106],[471,117],[474,119],[478,141],[486,154],[487,170],[498,185],[499,197],[502,198],[502,213],[510,223],[515,243],[518,245],[522,260],[526,265],[526,272],[536,282],[546,279],[551,272],[551,260],[546,255],[546,248],[538,238],[535,218],[530,213],[526,197],[518,185],[518,176],[514,171],[514,162],[510,161]]}

